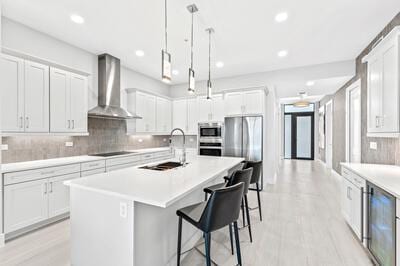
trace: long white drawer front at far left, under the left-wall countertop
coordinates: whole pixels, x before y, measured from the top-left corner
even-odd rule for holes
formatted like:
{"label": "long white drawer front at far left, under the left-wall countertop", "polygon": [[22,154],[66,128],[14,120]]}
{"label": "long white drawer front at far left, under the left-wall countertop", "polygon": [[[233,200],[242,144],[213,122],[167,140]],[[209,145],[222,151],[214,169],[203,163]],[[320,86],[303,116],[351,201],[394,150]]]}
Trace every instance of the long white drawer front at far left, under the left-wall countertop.
{"label": "long white drawer front at far left, under the left-wall countertop", "polygon": [[35,170],[20,171],[4,174],[4,185],[17,184],[36,179],[48,178],[59,175],[79,173],[80,164],[69,164],[64,166],[47,167]]}

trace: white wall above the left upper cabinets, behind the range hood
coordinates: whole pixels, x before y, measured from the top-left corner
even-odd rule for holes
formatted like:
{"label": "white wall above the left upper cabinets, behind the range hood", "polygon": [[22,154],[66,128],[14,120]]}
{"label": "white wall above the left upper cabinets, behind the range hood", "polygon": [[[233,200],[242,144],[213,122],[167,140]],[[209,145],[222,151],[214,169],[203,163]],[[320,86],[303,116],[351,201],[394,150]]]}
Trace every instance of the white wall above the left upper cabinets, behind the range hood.
{"label": "white wall above the left upper cabinets, behind the range hood", "polygon": [[[2,20],[2,46],[91,73],[89,81],[89,108],[97,105],[97,55],[8,18],[2,17]],[[121,90],[124,91],[125,88],[140,88],[169,96],[169,87],[164,83],[122,67]],[[123,92],[121,101],[123,105],[125,105],[124,100]]]}

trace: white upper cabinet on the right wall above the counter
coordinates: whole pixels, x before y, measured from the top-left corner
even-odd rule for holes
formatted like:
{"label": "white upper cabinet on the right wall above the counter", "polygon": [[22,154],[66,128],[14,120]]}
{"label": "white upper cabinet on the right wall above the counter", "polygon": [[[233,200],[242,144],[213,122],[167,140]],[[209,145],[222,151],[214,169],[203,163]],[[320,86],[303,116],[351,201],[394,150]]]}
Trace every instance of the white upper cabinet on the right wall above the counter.
{"label": "white upper cabinet on the right wall above the counter", "polygon": [[399,127],[400,27],[390,32],[363,59],[367,62],[368,135],[395,137]]}

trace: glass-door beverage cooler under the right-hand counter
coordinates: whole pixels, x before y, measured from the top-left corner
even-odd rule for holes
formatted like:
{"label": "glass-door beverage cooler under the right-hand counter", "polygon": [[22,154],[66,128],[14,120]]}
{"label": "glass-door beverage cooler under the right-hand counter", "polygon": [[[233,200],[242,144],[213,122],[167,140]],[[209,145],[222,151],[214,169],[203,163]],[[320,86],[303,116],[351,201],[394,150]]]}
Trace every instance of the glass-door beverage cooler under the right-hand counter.
{"label": "glass-door beverage cooler under the right-hand counter", "polygon": [[368,183],[367,246],[379,265],[396,265],[396,199],[371,183]]}

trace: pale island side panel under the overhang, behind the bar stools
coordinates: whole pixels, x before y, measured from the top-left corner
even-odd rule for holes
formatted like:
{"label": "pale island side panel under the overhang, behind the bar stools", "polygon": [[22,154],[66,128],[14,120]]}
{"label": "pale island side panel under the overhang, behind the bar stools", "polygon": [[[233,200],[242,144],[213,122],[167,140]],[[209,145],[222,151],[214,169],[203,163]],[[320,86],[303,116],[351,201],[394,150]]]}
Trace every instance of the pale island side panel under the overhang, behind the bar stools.
{"label": "pale island side panel under the overhang, behind the bar stools", "polygon": [[[203,188],[224,182],[226,174],[218,175],[167,208],[135,202],[135,265],[175,266],[178,241],[176,210],[204,201]],[[201,236],[201,231],[183,221],[182,252],[192,248]]]}

